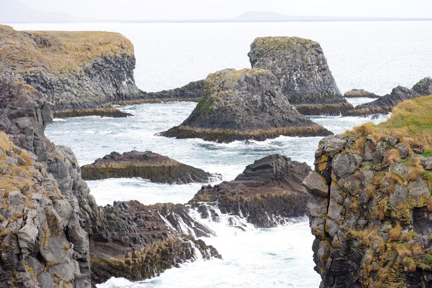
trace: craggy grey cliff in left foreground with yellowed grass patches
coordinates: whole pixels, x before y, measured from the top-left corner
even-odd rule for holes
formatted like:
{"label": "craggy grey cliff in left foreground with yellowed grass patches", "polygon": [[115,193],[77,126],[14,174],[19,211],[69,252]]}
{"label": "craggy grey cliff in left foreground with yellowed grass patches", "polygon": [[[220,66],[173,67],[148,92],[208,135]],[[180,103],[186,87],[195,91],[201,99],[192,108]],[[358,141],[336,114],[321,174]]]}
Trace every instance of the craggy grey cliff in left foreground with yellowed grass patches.
{"label": "craggy grey cliff in left foreground with yellowed grass patches", "polygon": [[89,242],[80,226],[80,207],[47,172],[49,104],[23,84],[1,81],[0,94],[0,130],[20,146],[1,132],[0,286],[90,287]]}

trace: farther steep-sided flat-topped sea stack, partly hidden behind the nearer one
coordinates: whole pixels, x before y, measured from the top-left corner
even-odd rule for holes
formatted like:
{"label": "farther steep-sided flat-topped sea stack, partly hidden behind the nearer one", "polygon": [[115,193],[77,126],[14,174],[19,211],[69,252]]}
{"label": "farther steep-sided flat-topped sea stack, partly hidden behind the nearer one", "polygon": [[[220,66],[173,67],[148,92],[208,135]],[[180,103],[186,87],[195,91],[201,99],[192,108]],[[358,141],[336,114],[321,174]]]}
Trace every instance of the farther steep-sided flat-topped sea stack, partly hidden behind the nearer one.
{"label": "farther steep-sided flat-topped sea stack, partly hidden behind the nearer one", "polygon": [[352,109],[336,86],[318,42],[298,37],[258,37],[248,53],[252,68],[267,69],[303,115],[340,115]]}

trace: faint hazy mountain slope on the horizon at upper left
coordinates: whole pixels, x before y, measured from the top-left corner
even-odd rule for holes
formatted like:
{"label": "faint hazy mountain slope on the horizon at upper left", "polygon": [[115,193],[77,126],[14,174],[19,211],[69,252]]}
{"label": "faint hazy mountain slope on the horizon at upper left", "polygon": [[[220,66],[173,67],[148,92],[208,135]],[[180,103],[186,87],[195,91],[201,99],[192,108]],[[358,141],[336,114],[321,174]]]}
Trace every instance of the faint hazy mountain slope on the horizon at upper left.
{"label": "faint hazy mountain slope on the horizon at upper left", "polygon": [[51,23],[86,22],[94,19],[70,15],[64,12],[45,13],[33,9],[18,0],[1,0],[0,23]]}

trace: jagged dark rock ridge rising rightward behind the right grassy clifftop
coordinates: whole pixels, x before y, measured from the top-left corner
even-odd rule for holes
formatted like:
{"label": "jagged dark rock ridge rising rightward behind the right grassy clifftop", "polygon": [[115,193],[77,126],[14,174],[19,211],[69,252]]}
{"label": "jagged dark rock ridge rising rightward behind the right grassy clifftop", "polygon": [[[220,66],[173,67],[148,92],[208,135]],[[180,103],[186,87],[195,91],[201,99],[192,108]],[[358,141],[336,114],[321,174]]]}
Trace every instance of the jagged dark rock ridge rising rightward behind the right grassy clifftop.
{"label": "jagged dark rock ridge rising rightward behind the right grassy clifftop", "polygon": [[382,96],[374,101],[356,106],[353,110],[346,111],[343,116],[367,116],[374,114],[388,114],[393,107],[402,101],[414,99],[420,96],[432,94],[432,79],[425,77],[417,82],[412,89],[398,86],[393,88],[390,94]]}

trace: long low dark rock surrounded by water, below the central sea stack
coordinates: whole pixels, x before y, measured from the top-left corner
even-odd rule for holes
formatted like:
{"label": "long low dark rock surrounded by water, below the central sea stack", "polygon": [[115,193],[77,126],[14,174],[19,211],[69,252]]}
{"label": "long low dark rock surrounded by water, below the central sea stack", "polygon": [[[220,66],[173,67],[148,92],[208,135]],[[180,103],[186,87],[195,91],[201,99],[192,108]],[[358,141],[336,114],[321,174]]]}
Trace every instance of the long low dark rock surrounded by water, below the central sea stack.
{"label": "long low dark rock surrounded by water, below the central sea stack", "polygon": [[152,182],[169,184],[208,183],[217,179],[217,175],[182,164],[167,156],[136,150],[123,154],[111,152],[92,164],[81,167],[81,175],[84,180],[141,177]]}

